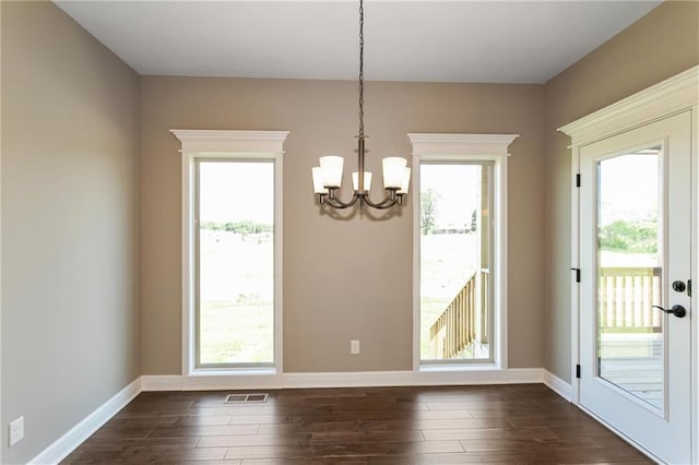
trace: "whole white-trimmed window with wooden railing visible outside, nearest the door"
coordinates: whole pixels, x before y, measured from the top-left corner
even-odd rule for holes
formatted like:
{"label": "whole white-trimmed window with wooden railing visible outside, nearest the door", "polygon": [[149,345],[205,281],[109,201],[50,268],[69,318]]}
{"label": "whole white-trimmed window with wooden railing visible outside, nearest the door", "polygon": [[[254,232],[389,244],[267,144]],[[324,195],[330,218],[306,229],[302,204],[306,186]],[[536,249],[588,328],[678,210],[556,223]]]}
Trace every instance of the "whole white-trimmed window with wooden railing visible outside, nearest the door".
{"label": "whole white-trimmed window with wooden railing visible outside, nearest the door", "polygon": [[517,135],[408,134],[414,367],[507,368],[507,148]]}

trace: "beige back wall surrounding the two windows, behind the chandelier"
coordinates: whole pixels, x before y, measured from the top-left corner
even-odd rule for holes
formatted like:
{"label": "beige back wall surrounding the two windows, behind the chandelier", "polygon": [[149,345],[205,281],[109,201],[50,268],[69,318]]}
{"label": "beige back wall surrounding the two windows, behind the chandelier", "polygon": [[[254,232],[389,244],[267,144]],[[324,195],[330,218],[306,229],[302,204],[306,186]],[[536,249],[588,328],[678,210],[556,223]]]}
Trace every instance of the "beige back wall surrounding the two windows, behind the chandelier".
{"label": "beige back wall surrounding the two windows, behind the chandelier", "polygon": [[[180,157],[170,129],[288,130],[283,191],[284,370],[412,368],[412,208],[337,220],[316,206],[310,167],[354,162],[355,82],[146,76],[141,81],[143,374],[181,372]],[[407,132],[518,133],[509,181],[511,367],[541,367],[543,87],[368,83],[368,164],[408,156]],[[350,355],[350,339],[362,355]]]}

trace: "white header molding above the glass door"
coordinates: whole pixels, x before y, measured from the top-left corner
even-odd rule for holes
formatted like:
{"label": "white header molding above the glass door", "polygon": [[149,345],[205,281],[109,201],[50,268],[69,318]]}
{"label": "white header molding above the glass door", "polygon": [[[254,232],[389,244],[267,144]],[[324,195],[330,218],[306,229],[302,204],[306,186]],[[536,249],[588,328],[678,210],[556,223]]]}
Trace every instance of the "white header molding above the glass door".
{"label": "white header molding above the glass door", "polygon": [[696,65],[562,126],[558,131],[570,136],[572,143],[568,148],[572,148],[687,110],[698,100],[699,65]]}

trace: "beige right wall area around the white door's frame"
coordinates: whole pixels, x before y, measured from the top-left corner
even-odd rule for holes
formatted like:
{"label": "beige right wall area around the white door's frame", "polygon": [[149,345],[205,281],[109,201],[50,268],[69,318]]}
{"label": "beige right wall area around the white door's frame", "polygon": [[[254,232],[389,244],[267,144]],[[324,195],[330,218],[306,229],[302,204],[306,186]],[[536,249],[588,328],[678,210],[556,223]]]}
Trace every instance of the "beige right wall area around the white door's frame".
{"label": "beige right wall area around the white door's frame", "polygon": [[699,2],[666,1],[546,84],[544,367],[570,381],[570,143],[557,128],[699,63]]}

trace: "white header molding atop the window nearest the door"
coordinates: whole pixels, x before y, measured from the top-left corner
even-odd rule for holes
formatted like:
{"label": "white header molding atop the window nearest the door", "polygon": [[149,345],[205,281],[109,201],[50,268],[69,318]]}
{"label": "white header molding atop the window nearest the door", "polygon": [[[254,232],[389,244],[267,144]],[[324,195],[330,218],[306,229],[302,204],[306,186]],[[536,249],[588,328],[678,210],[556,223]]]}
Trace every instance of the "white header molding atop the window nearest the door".
{"label": "white header molding atop the window nearest the door", "polygon": [[413,155],[510,156],[508,148],[519,134],[430,134],[408,133]]}

